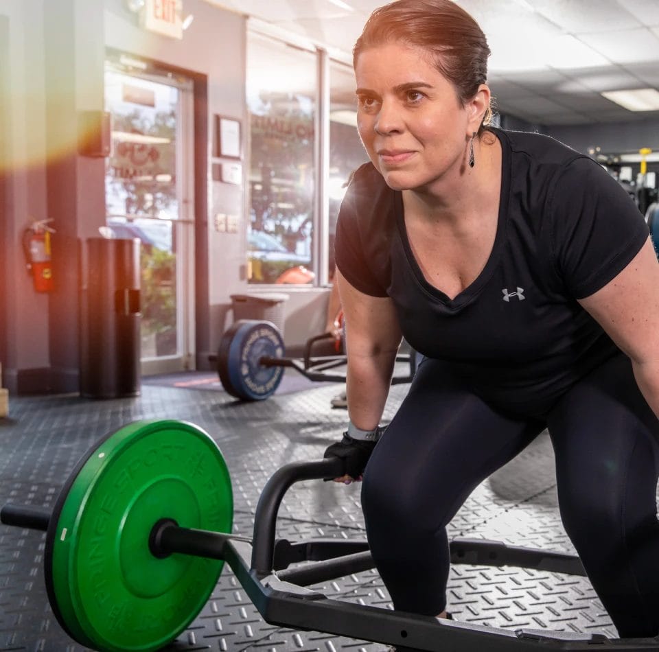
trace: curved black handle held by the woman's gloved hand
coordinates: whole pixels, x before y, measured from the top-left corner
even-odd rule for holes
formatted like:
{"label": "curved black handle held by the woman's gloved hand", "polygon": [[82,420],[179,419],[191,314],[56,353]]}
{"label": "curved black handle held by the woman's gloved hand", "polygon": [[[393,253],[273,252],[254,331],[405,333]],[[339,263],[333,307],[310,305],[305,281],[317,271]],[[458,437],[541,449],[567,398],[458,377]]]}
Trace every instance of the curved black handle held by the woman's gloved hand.
{"label": "curved black handle held by the woman's gloved hand", "polygon": [[288,487],[301,480],[338,478],[343,475],[343,466],[343,460],[332,457],[319,462],[293,462],[275,471],[256,506],[252,570],[260,575],[268,575],[273,570],[277,511]]}

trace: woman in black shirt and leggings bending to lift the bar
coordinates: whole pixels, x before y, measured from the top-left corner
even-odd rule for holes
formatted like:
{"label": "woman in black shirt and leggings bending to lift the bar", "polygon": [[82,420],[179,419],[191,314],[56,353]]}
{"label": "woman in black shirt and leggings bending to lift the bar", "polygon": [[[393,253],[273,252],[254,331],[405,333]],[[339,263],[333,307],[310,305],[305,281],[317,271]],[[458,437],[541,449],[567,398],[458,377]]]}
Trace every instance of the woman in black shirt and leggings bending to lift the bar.
{"label": "woman in black shirt and leggings bending to lift the bar", "polygon": [[[450,0],[375,10],[356,43],[371,163],[338,219],[350,424],[326,456],[344,482],[368,460],[367,536],[395,607],[446,616],[446,524],[548,428],[594,589],[620,636],[656,636],[659,264],[599,165],[488,126],[488,55]],[[379,439],[403,335],[426,358]]]}

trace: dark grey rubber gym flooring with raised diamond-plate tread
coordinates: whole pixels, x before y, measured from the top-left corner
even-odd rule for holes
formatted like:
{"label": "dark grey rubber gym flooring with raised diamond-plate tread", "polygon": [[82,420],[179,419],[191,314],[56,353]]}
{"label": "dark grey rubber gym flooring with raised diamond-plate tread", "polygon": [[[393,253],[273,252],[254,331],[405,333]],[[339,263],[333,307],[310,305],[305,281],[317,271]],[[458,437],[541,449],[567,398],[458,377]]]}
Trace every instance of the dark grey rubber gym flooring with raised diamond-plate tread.
{"label": "dark grey rubber gym flooring with raised diamond-plate tread", "polygon": [[[289,370],[286,372],[295,374]],[[180,384],[179,384],[180,385]],[[251,536],[266,480],[290,461],[322,457],[345,428],[345,410],[329,401],[340,385],[297,384],[266,401],[242,404],[200,385],[142,385],[141,396],[94,401],[78,395],[11,397],[0,419],[0,504],[53,506],[78,458],[97,439],[137,419],[183,419],[218,441],[231,471],[234,533]],[[406,393],[396,385],[390,419]],[[359,485],[303,482],[279,510],[277,536],[365,538]],[[450,524],[451,537],[573,552],[560,524],[553,454],[546,434],[472,493]],[[0,526],[0,650],[79,651],[49,607],[43,579],[45,533]],[[316,585],[337,600],[391,608],[377,572]],[[563,629],[616,636],[608,614],[582,577],[517,568],[454,566],[448,608],[457,620],[518,629]],[[268,625],[224,566],[211,598],[167,650],[275,652],[354,650],[386,646]]]}

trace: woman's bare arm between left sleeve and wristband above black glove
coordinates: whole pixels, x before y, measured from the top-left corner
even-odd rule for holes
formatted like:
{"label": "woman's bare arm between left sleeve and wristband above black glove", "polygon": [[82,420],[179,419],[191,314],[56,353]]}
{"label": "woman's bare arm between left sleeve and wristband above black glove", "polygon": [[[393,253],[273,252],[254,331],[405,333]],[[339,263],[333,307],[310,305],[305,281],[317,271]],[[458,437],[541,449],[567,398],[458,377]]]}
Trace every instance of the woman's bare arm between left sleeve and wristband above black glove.
{"label": "woman's bare arm between left sleeve and wristband above black glove", "polygon": [[364,294],[336,270],[334,282],[346,325],[348,415],[361,430],[373,430],[389,395],[402,334],[393,301]]}

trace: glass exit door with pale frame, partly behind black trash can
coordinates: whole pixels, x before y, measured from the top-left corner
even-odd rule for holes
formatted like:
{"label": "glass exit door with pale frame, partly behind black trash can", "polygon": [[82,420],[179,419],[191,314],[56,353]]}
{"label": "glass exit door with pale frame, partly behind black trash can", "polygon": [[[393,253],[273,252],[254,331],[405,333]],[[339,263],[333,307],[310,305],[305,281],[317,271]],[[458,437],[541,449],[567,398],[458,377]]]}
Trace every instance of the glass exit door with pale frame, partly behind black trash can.
{"label": "glass exit door with pale frame, partly behind black trash can", "polygon": [[106,63],[108,237],[141,245],[141,371],[194,366],[192,82]]}

